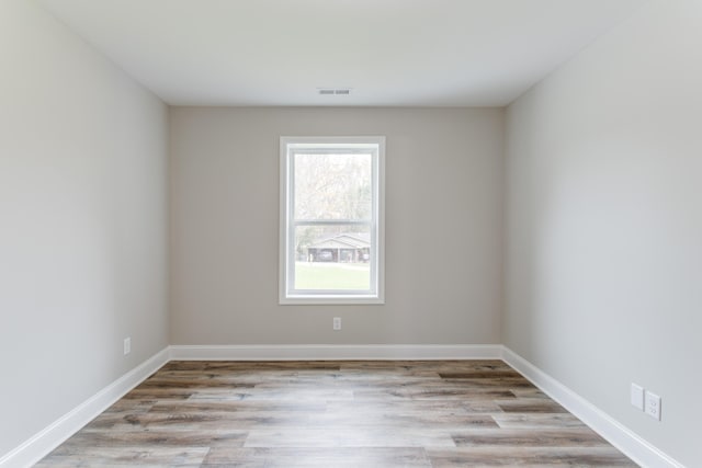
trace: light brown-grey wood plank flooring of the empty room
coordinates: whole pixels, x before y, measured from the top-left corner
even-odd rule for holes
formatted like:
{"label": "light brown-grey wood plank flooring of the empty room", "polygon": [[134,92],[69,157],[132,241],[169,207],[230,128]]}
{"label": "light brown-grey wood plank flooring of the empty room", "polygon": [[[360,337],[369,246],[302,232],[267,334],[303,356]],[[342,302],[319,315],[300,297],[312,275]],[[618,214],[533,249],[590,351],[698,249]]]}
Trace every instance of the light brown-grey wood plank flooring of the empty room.
{"label": "light brown-grey wood plank flooring of the empty room", "polygon": [[38,467],[636,466],[501,361],[171,362]]}

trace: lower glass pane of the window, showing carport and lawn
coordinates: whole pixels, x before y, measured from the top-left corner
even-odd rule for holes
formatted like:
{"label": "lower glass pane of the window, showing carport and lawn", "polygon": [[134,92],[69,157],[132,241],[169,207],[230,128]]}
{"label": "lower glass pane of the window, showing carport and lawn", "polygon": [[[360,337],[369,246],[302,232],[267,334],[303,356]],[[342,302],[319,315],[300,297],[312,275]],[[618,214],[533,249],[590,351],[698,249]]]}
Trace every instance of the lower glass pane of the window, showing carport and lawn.
{"label": "lower glass pane of the window, showing carport and lawn", "polygon": [[369,290],[370,226],[298,226],[295,289]]}

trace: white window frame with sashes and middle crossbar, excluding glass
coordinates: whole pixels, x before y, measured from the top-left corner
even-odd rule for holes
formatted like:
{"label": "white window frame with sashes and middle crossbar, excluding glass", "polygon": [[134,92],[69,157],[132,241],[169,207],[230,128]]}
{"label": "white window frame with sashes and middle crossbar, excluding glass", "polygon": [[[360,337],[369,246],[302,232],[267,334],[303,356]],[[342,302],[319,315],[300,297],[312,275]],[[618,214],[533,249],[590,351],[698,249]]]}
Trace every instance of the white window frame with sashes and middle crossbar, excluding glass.
{"label": "white window frame with sashes and middle crossbar, excluding glass", "polygon": [[[371,288],[369,290],[296,290],[294,289],[295,227],[294,171],[295,152],[349,149],[371,150],[372,216]],[[280,138],[280,304],[385,304],[385,137],[281,137]],[[305,221],[308,224],[308,221]],[[324,220],[320,225],[354,224],[356,220]]]}

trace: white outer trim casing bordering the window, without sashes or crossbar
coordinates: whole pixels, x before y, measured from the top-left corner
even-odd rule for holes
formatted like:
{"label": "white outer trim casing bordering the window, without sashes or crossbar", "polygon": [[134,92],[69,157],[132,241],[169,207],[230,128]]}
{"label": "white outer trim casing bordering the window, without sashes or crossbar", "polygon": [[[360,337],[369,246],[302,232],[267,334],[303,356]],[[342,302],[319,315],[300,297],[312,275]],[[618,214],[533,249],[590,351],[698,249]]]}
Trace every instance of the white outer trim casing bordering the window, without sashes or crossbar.
{"label": "white outer trim casing bordering the window, without sashes or crossbar", "polygon": [[[288,274],[294,267],[288,247],[292,241],[291,222],[292,186],[291,157],[294,146],[349,148],[360,145],[377,145],[377,156],[373,170],[374,193],[373,217],[371,219],[371,238],[375,242],[375,253],[371,256],[371,269],[375,269],[374,294],[314,293],[294,294],[290,290]],[[373,227],[375,226],[375,229]],[[373,236],[375,231],[375,236]],[[281,305],[359,305],[385,304],[385,137],[280,137],[280,246],[279,246],[279,304]],[[292,260],[292,262],[291,262]],[[373,275],[372,275],[373,276]],[[373,285],[371,287],[371,293]]]}

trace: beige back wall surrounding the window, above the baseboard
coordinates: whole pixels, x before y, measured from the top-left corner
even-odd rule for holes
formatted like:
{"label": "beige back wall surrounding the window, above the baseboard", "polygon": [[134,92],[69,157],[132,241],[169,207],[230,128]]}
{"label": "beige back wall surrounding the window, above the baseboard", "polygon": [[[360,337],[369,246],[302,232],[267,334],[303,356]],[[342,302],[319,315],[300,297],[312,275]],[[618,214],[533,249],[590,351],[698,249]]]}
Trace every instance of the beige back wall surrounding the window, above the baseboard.
{"label": "beige back wall surrounding the window, above the baseboard", "polygon": [[[501,110],[172,109],[171,343],[499,343],[502,121]],[[278,304],[282,135],[387,137],[384,306]]]}

